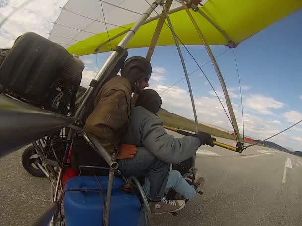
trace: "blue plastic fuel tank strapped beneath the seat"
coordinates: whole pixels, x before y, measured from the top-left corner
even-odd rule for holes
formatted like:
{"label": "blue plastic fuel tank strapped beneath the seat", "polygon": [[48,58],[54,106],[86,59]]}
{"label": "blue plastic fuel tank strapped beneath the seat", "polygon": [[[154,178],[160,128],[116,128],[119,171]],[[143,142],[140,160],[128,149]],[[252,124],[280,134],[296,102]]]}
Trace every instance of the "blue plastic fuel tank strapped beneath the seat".
{"label": "blue plastic fuel tank strapped beneath the seat", "polygon": [[[65,185],[64,214],[68,226],[101,226],[108,188],[108,176],[78,176]],[[135,194],[125,194],[125,182],[114,177],[109,214],[109,226],[137,226],[141,219],[141,205]],[[82,191],[76,191],[81,189]],[[104,199],[104,204],[101,199]]]}

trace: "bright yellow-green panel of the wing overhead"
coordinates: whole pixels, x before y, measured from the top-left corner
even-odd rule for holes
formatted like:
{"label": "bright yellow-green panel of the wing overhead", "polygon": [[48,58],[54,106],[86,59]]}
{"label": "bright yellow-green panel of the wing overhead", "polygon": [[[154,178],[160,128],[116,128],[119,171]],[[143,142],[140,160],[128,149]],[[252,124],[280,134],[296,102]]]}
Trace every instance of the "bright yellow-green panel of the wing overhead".
{"label": "bright yellow-green panel of the wing overhead", "polygon": [[[147,5],[148,7],[148,5]],[[146,7],[146,8],[147,8]],[[160,7],[160,6],[159,6]],[[175,8],[175,7],[174,7]],[[239,44],[269,25],[302,8],[302,0],[211,0],[200,9],[206,13],[234,43]],[[158,10],[157,10],[158,11]],[[210,45],[227,45],[226,38],[202,15],[191,10]],[[105,15],[106,16],[106,15]],[[154,16],[154,15],[153,15]],[[193,24],[184,10],[170,15],[175,33],[184,44],[202,44]],[[143,25],[129,42],[128,48],[148,47],[158,20]],[[113,28],[108,31],[110,39],[130,28],[134,23]],[[106,31],[93,35],[71,45],[67,50],[74,54],[87,55],[95,53],[97,47],[108,41]],[[114,48],[124,35],[111,41]],[[157,46],[174,45],[170,29],[164,25]],[[110,51],[109,43],[103,45],[98,52]]]}

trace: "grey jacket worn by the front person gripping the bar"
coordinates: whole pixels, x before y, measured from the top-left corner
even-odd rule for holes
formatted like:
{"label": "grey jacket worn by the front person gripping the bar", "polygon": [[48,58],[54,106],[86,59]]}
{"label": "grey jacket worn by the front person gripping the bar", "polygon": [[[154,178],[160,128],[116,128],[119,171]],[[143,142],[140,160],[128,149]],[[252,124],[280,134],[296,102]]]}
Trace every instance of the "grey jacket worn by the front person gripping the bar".
{"label": "grey jacket worn by the front person gripping the bar", "polygon": [[131,109],[123,143],[136,145],[138,152],[145,148],[161,161],[172,164],[190,158],[200,146],[197,137],[174,138],[167,134],[161,118],[141,106]]}

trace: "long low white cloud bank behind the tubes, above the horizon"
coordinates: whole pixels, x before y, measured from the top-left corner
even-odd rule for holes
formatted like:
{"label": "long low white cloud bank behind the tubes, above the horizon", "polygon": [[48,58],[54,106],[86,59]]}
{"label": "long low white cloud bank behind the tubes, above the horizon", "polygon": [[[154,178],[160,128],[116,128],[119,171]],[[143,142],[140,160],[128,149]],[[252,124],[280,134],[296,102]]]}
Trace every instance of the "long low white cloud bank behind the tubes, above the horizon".
{"label": "long low white cloud bank behind the tubes, above the horizon", "polygon": [[[161,86],[161,88],[165,89],[166,87]],[[158,90],[160,89],[157,89],[157,91]],[[193,119],[192,105],[188,92],[180,89],[179,87],[176,87],[175,89],[170,88],[170,92],[165,92],[164,94],[162,95],[164,108],[166,108],[167,110],[173,110],[173,113],[177,113]],[[212,124],[221,128],[225,128],[228,131],[233,131],[229,119],[227,118],[227,115],[217,98],[198,97],[195,98],[194,101],[199,122]],[[225,100],[222,99],[222,102],[228,113],[228,108],[226,107],[227,104]],[[241,111],[238,108],[238,105],[233,105],[233,109],[236,115],[240,133],[242,135],[243,123]],[[258,139],[265,139],[281,131],[280,129],[278,129],[279,123],[281,124],[281,122],[278,122],[279,121],[277,120],[266,121],[258,116],[245,113],[245,135]]]}

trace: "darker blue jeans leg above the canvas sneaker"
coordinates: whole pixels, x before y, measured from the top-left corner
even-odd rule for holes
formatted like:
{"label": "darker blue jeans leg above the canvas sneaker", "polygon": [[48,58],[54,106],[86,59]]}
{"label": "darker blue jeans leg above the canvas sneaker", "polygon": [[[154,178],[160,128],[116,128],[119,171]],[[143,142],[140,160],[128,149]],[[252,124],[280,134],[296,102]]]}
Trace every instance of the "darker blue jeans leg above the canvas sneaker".
{"label": "darker blue jeans leg above the canvas sneaker", "polygon": [[150,198],[154,201],[164,197],[170,164],[162,162],[145,148],[138,147],[132,159],[119,160],[119,170],[124,176],[145,176],[150,181]]}

